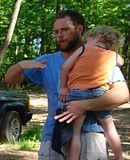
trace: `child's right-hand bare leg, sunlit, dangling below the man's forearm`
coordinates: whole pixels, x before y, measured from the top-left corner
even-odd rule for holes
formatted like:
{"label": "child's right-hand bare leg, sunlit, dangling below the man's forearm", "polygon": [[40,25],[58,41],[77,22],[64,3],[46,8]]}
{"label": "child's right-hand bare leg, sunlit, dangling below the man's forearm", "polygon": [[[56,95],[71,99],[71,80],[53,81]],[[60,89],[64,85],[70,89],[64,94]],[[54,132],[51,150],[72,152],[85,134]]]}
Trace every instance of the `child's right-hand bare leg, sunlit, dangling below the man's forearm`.
{"label": "child's right-hand bare leg, sunlit, dangling below the man's forearm", "polygon": [[115,155],[115,160],[123,160],[121,140],[115,128],[112,117],[106,119],[100,118],[98,120],[102,124],[107,142]]}

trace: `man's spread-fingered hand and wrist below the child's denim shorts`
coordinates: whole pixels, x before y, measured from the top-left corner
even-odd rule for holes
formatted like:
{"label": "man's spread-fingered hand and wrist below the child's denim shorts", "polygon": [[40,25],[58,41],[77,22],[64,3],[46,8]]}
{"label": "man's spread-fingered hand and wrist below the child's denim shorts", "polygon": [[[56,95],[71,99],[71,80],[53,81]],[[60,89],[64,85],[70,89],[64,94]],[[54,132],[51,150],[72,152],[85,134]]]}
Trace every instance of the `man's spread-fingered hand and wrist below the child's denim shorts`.
{"label": "man's spread-fingered hand and wrist below the child's denim shorts", "polygon": [[76,118],[80,117],[86,112],[86,100],[71,101],[67,103],[67,111],[55,116],[59,122],[71,123]]}

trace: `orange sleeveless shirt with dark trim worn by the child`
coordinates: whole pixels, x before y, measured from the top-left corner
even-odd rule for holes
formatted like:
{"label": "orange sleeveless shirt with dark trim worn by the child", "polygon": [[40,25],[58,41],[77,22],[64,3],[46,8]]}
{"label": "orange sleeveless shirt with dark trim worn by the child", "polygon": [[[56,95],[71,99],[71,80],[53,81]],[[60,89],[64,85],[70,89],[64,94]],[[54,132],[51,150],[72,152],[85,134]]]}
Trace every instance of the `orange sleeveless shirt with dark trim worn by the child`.
{"label": "orange sleeveless shirt with dark trim worn by the child", "polygon": [[85,90],[102,86],[109,89],[109,75],[115,66],[116,52],[86,45],[68,75],[68,88]]}

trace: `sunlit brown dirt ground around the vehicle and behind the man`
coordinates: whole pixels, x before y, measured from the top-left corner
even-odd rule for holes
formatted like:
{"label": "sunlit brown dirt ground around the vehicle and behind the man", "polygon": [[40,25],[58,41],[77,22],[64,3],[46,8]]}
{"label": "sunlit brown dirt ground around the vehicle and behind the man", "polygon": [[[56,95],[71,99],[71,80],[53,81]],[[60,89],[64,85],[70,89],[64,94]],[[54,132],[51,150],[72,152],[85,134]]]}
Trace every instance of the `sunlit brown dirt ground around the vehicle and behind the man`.
{"label": "sunlit brown dirt ground around the vehicle and behind the man", "polygon": [[[32,120],[28,123],[39,123],[43,125],[47,115],[46,95],[29,94],[31,98],[32,111],[34,113]],[[44,106],[44,108],[43,108]],[[121,137],[123,156],[125,160],[130,160],[130,104],[124,104],[113,111],[113,118],[116,128]],[[0,160],[37,160],[37,152],[21,151],[19,149],[8,148],[5,150],[4,145],[0,145]],[[110,159],[113,156],[110,151]]]}

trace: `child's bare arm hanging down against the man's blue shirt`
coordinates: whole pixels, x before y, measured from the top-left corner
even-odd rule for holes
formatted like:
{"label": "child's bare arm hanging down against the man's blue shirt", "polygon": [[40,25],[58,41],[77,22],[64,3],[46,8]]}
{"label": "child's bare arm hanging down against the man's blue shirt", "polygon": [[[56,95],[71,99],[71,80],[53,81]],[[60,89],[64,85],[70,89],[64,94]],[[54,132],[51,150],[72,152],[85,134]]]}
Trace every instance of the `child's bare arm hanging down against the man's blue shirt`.
{"label": "child's bare arm hanging down against the man's blue shirt", "polygon": [[61,68],[61,75],[60,75],[60,96],[59,99],[61,101],[65,101],[66,100],[66,96],[67,96],[67,81],[68,81],[68,74],[69,71],[71,70],[71,68],[74,65],[74,62],[76,61],[76,59],[79,57],[79,55],[81,54],[81,52],[83,51],[83,47],[78,48],[74,53],[72,53],[72,55],[65,61],[65,63],[63,64],[62,68]]}

